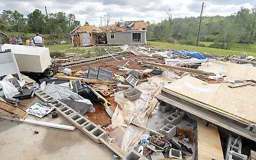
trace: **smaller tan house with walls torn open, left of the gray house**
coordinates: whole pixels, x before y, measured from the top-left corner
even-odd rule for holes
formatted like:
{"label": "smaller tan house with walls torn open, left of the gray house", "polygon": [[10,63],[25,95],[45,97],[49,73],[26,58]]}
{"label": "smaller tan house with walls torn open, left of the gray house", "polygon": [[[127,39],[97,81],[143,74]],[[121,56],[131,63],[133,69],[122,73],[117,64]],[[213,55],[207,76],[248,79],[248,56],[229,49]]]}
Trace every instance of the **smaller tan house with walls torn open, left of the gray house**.
{"label": "smaller tan house with walls torn open, left of the gray house", "polygon": [[78,26],[70,32],[74,47],[99,44],[99,39],[104,35],[96,26]]}

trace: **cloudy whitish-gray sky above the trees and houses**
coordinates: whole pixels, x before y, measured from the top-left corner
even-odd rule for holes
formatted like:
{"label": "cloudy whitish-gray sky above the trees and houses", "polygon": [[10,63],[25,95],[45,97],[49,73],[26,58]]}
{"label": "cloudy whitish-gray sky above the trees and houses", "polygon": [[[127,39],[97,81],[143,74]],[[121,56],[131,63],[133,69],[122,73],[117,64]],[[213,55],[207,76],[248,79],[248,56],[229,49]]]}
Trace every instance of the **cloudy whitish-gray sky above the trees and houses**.
{"label": "cloudy whitish-gray sky above the trees and houses", "polygon": [[[12,0],[0,1],[0,11],[18,10],[25,16],[39,9],[45,13],[65,12],[73,13],[83,25],[87,20],[90,25],[99,26],[100,16],[106,12],[111,15],[110,23],[113,24],[121,18],[124,21],[145,20],[159,22],[167,18],[165,10],[172,8],[173,17],[199,16],[202,6],[201,0]],[[256,0],[205,0],[203,15],[227,16],[239,11],[240,7],[251,9],[256,5]]]}

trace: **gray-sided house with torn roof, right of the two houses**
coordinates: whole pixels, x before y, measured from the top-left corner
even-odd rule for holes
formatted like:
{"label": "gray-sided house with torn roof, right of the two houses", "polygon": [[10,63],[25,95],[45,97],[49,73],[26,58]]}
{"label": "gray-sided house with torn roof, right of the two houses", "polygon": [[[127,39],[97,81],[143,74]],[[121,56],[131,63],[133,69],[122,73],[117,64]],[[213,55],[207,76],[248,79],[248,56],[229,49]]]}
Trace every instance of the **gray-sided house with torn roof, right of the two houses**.
{"label": "gray-sided house with torn roof, right of the two houses", "polygon": [[117,22],[106,33],[108,44],[146,44],[146,26],[143,20]]}

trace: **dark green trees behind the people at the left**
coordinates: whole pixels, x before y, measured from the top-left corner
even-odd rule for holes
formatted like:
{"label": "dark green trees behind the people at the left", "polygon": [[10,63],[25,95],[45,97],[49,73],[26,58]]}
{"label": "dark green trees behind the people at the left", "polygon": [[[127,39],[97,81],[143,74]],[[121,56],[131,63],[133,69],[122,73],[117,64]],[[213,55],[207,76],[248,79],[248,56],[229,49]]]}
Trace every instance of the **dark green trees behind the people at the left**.
{"label": "dark green trees behind the people at the left", "polygon": [[16,10],[4,10],[0,14],[0,29],[5,32],[49,34],[48,20],[51,32],[56,38],[69,36],[69,32],[80,25],[74,14],[64,12],[50,13],[47,19],[46,14],[42,14],[38,9],[29,13],[27,17]]}

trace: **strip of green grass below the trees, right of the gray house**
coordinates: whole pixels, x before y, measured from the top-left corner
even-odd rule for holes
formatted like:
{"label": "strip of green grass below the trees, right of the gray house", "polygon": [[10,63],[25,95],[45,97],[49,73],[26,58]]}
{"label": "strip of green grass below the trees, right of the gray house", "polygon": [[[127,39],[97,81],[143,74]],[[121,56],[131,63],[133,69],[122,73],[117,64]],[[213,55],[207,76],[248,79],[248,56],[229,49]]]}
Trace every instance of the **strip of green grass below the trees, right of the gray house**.
{"label": "strip of green grass below the trees, right of the gray house", "polygon": [[[223,49],[215,49],[215,48],[207,48],[207,47],[196,47],[193,45],[184,45],[184,44],[173,44],[173,43],[165,43],[165,42],[156,42],[156,41],[147,41],[147,43],[152,44],[156,48],[165,48],[165,49],[174,49],[174,50],[189,50],[189,51],[196,51],[200,53],[208,53],[208,54],[216,54],[216,55],[238,55],[240,56],[241,53],[245,52],[248,56],[256,57],[255,45],[252,45],[252,52],[247,51],[247,49],[240,49],[237,51],[234,50],[223,50]],[[209,42],[208,42],[209,43]],[[247,44],[248,45],[248,44]]]}

